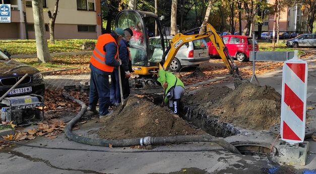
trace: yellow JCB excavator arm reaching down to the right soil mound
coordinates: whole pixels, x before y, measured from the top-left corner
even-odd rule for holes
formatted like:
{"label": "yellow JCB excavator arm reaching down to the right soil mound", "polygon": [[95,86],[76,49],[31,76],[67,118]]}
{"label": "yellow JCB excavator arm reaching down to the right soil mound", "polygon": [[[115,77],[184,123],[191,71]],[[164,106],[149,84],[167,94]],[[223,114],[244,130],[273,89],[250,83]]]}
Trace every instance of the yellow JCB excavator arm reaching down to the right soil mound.
{"label": "yellow JCB excavator arm reaching down to the right soil mound", "polygon": [[225,63],[229,73],[235,77],[242,79],[239,75],[238,67],[236,67],[233,58],[229,55],[227,47],[223,43],[222,38],[217,34],[216,30],[210,24],[206,24],[206,32],[195,35],[183,35],[181,33],[176,34],[171,40],[170,44],[162,56],[162,61],[159,64],[159,69],[167,70],[174,59],[176,53],[185,43],[195,41],[203,38],[210,38],[223,62]]}

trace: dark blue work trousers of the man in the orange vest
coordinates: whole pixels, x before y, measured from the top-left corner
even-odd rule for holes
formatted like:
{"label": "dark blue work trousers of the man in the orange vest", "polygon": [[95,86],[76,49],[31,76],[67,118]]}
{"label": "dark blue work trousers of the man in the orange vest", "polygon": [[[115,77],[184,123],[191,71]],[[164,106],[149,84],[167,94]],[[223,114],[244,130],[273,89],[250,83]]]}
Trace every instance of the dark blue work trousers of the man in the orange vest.
{"label": "dark blue work trousers of the man in the orange vest", "polygon": [[106,115],[111,104],[109,76],[91,71],[89,107],[95,108],[98,100],[99,115]]}

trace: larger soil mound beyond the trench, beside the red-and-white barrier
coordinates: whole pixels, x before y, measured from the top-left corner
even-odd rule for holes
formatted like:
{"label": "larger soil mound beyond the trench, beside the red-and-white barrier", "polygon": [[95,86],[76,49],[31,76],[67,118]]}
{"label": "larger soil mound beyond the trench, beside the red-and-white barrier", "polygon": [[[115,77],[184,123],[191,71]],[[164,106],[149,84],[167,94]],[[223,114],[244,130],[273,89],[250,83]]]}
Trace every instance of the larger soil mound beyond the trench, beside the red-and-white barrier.
{"label": "larger soil mound beyond the trench, beside the red-and-white barrier", "polygon": [[281,95],[269,86],[245,83],[231,91],[226,86],[204,88],[185,102],[200,104],[209,115],[249,129],[268,129],[280,123]]}

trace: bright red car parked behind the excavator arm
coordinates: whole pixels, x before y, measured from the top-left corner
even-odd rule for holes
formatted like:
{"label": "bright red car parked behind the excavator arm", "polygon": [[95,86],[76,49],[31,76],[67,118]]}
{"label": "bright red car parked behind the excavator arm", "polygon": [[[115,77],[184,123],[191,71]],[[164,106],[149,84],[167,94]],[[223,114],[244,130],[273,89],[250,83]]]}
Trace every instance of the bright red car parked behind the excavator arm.
{"label": "bright red car parked behind the excavator arm", "polygon": [[[249,60],[249,53],[252,51],[252,38],[240,35],[223,36],[223,42],[226,45],[230,56],[237,61],[243,62]],[[207,43],[210,57],[218,57],[219,54],[211,42]],[[258,43],[255,43],[255,50],[259,51]]]}

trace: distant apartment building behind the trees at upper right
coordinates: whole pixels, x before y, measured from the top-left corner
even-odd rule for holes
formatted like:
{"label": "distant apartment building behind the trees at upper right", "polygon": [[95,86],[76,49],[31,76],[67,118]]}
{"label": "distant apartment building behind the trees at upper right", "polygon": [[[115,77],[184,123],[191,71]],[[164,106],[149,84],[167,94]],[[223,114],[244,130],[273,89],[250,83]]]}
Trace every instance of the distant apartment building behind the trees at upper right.
{"label": "distant apartment building behind the trees at upper right", "polygon": [[[270,5],[275,4],[275,0],[267,1]],[[288,33],[305,33],[307,32],[307,12],[301,11],[301,6],[296,5],[294,7],[281,7],[279,31]],[[267,15],[262,26],[262,32],[273,31],[274,14]],[[242,21],[242,29],[246,26],[246,21]],[[258,32],[258,24],[252,25],[252,31]],[[239,26],[236,26],[235,31],[239,30]]]}

